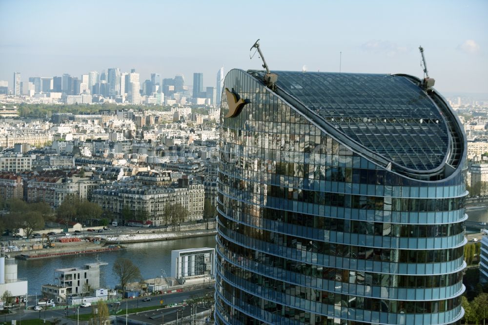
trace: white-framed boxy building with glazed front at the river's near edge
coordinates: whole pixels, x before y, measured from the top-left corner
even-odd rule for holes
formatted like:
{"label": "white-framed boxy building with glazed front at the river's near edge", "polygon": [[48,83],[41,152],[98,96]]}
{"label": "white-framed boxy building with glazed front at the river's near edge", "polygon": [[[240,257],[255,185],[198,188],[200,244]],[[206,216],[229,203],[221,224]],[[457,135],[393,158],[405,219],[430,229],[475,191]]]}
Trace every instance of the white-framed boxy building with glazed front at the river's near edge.
{"label": "white-framed boxy building with glazed front at the river's near edge", "polygon": [[184,282],[196,276],[213,276],[214,260],[215,248],[172,250],[171,277]]}

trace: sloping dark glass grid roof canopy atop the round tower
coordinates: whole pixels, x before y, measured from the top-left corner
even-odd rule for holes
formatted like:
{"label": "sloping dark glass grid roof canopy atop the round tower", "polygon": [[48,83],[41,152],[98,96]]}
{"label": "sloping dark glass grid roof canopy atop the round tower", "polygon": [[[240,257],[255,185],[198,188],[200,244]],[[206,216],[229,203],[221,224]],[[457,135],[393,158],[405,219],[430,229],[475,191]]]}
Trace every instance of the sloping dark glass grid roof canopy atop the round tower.
{"label": "sloping dark glass grid roof canopy atop the round tower", "polygon": [[446,122],[407,77],[383,74],[273,71],[276,85],[352,141],[414,170],[442,165]]}

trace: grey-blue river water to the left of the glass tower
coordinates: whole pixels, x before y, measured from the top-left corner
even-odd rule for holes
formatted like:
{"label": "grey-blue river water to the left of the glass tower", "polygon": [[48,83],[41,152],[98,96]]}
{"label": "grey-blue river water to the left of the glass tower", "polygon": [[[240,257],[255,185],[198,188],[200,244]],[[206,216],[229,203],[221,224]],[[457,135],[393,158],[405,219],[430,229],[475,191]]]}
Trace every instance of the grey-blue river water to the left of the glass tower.
{"label": "grey-blue river water to the left of the glass tower", "polygon": [[215,235],[174,239],[163,242],[124,244],[124,250],[100,254],[70,255],[58,258],[39,260],[17,260],[17,277],[28,279],[29,295],[39,295],[42,284],[55,284],[54,270],[68,267],[82,267],[83,264],[98,260],[107,262],[102,266],[100,284],[107,288],[114,288],[119,283],[112,272],[112,265],[119,257],[132,260],[139,266],[143,279],[160,277],[163,269],[167,276],[171,276],[171,251],[175,249],[210,247],[215,248]]}

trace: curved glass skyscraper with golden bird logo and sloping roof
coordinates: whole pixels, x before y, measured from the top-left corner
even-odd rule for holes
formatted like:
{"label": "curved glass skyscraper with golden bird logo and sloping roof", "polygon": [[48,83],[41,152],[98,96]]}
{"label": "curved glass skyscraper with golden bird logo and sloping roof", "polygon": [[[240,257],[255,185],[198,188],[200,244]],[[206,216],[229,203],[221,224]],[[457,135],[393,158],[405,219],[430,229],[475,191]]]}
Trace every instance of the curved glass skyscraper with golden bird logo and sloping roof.
{"label": "curved glass skyscraper with golden bird logo and sloping roof", "polygon": [[274,73],[224,81],[217,324],[460,324],[466,139],[447,101],[407,75]]}

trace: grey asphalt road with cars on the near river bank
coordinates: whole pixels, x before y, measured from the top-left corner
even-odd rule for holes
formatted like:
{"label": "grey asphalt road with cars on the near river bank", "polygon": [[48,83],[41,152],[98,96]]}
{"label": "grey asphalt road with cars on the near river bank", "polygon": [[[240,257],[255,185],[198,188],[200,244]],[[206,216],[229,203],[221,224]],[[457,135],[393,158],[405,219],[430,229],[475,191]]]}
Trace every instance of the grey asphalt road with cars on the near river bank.
{"label": "grey asphalt road with cars on the near river bank", "polygon": [[[183,300],[187,300],[191,296],[195,296],[195,295],[204,296],[206,294],[213,295],[214,290],[215,290],[214,287],[207,287],[204,289],[197,289],[192,291],[183,291],[183,292],[168,293],[168,294],[157,295],[157,296],[150,296],[152,298],[152,301],[148,301],[148,302],[142,302],[143,298],[128,299],[128,300],[121,301],[121,308],[123,310],[125,308],[127,309],[137,308],[138,306],[139,307],[157,306],[160,305],[161,298],[163,298],[164,305],[177,304],[177,303],[181,303]],[[65,316],[76,315],[77,310],[78,307],[74,307],[74,308],[71,307],[67,309],[54,309],[54,310],[43,309],[41,311],[35,311],[30,307],[29,309],[25,310],[24,307],[22,306],[22,309],[19,310],[19,308],[15,308],[12,314],[5,315],[3,317],[3,320],[1,319],[0,316],[0,321],[9,322],[12,320],[17,320],[17,324],[21,325],[22,320],[27,320],[27,319],[46,319],[49,321],[54,318],[61,318],[62,319],[61,324],[76,324],[77,323],[76,320],[65,318]],[[79,308],[79,312],[80,315],[91,314],[92,307]],[[85,325],[87,322],[80,322],[80,323]]]}

